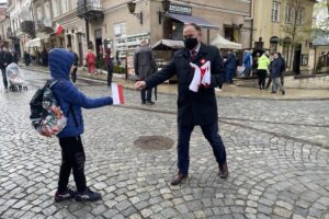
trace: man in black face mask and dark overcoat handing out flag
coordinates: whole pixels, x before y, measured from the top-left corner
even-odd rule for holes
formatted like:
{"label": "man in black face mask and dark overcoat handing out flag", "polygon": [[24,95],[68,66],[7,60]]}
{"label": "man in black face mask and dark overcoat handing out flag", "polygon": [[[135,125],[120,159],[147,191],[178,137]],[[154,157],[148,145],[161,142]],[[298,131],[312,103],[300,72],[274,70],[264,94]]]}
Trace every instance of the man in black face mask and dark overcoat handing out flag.
{"label": "man in black face mask and dark overcoat handing out flag", "polygon": [[[135,88],[148,89],[178,77],[178,174],[171,185],[182,183],[189,174],[189,148],[190,138],[194,126],[201,126],[204,137],[213,147],[216,161],[219,166],[219,176],[228,176],[226,163],[226,150],[218,134],[217,102],[214,88],[224,82],[224,68],[219,51],[213,46],[201,43],[201,28],[195,24],[186,24],[183,30],[185,48],[178,50],[171,62],[159,72],[150,76],[145,81],[138,81]],[[211,84],[208,88],[200,87],[197,92],[189,89],[194,77],[194,70],[190,66],[193,62],[201,67],[211,61]]]}

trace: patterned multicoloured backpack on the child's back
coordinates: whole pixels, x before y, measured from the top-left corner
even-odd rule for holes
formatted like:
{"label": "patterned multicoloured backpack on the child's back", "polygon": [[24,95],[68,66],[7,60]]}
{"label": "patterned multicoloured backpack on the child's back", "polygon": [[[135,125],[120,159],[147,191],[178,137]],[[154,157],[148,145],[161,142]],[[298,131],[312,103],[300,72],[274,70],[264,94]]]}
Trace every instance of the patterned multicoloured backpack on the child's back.
{"label": "patterned multicoloured backpack on the child's back", "polygon": [[30,102],[32,126],[42,136],[53,137],[57,135],[67,123],[67,118],[52,91],[52,87],[57,82],[58,80],[48,80],[43,88],[35,92]]}

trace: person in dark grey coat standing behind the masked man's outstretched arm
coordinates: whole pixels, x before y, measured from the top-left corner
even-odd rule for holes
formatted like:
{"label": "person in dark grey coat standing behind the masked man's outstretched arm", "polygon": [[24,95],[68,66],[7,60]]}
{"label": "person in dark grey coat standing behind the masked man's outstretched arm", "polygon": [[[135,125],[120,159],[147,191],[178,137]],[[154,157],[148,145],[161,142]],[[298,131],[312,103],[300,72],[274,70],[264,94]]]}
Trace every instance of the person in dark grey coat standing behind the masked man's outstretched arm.
{"label": "person in dark grey coat standing behind the masked man's outstretched arm", "polygon": [[[152,73],[157,72],[157,65],[152,56],[152,49],[149,47],[147,41],[140,42],[139,49],[134,56],[135,73],[140,80],[148,79]],[[143,89],[140,91],[141,104],[155,104],[151,100],[152,88]]]}

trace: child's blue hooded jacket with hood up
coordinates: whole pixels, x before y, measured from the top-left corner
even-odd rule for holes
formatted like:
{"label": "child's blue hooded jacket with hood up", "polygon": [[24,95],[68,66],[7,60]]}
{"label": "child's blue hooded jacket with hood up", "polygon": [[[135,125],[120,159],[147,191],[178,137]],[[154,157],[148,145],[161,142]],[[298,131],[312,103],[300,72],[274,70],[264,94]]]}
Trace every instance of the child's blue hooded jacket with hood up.
{"label": "child's blue hooded jacket with hood up", "polygon": [[[58,82],[52,88],[54,96],[58,101],[61,111],[68,118],[66,127],[57,135],[58,138],[75,137],[83,134],[83,118],[81,107],[97,108],[113,103],[112,97],[89,99],[81,93],[69,78],[73,64],[73,54],[55,48],[49,53],[49,69],[53,79]],[[70,110],[71,106],[71,110]],[[72,114],[73,111],[73,114]],[[75,118],[77,124],[75,122]]]}

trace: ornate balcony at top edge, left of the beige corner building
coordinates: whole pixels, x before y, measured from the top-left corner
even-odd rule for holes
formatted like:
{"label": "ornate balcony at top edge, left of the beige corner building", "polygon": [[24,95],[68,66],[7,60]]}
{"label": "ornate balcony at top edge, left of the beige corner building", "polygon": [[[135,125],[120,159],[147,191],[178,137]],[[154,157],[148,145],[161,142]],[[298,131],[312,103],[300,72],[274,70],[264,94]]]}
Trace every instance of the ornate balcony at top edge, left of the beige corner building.
{"label": "ornate balcony at top edge, left of the beige corner building", "polygon": [[78,0],[78,16],[89,20],[104,18],[101,0]]}

